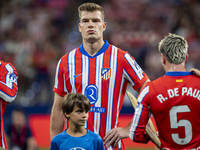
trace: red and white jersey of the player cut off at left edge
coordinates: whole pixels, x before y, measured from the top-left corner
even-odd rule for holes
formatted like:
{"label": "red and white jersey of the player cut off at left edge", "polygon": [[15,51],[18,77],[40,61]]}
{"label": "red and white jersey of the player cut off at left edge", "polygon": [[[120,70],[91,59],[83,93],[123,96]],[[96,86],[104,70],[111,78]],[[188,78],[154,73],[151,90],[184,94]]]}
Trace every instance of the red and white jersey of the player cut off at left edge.
{"label": "red and white jersey of the player cut off at left edge", "polygon": [[6,110],[6,103],[12,102],[17,96],[17,71],[10,63],[0,60],[0,147],[7,149],[3,114]]}

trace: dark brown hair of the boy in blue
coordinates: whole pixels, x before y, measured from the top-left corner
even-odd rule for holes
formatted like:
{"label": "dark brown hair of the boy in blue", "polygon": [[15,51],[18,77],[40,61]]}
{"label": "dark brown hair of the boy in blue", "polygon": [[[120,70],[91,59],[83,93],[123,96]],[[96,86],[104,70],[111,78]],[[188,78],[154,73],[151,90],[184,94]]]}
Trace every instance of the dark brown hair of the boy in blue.
{"label": "dark brown hair of the boy in blue", "polygon": [[65,113],[70,114],[73,111],[74,106],[78,106],[80,109],[84,110],[85,112],[89,112],[91,108],[90,101],[83,94],[80,94],[80,93],[66,94],[62,102],[63,114]]}

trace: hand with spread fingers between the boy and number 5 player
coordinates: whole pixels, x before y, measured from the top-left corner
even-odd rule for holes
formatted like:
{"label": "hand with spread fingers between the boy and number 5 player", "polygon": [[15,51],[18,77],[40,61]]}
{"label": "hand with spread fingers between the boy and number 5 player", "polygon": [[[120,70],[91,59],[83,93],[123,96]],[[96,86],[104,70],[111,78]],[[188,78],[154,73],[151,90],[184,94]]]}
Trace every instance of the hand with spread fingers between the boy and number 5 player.
{"label": "hand with spread fingers between the boy and number 5 player", "polygon": [[105,137],[103,138],[104,144],[106,147],[110,147],[113,145],[117,146],[117,143],[124,138],[129,137],[129,129],[128,128],[113,128],[107,132]]}

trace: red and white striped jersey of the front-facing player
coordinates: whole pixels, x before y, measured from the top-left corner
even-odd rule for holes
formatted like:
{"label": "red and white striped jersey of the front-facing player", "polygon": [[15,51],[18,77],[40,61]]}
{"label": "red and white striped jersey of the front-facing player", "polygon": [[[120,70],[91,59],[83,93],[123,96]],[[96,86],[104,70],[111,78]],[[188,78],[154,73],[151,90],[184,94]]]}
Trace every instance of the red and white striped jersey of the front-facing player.
{"label": "red and white striped jersey of the front-facing player", "polygon": [[86,127],[103,138],[118,125],[128,83],[138,89],[147,79],[128,52],[105,41],[102,49],[90,56],[82,44],[58,62],[54,92],[61,96],[84,94],[91,102]]}

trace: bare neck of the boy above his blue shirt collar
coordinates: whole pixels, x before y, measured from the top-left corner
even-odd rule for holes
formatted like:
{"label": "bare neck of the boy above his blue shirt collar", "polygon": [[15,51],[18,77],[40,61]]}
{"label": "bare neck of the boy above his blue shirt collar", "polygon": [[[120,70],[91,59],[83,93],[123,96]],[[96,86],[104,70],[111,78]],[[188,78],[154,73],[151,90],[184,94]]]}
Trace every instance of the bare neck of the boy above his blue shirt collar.
{"label": "bare neck of the boy above his blue shirt collar", "polygon": [[66,130],[67,134],[73,137],[80,137],[85,134],[87,134],[87,129],[85,129],[83,126],[75,127],[75,126],[69,126],[69,128]]}

